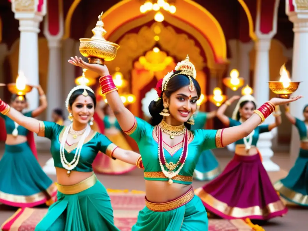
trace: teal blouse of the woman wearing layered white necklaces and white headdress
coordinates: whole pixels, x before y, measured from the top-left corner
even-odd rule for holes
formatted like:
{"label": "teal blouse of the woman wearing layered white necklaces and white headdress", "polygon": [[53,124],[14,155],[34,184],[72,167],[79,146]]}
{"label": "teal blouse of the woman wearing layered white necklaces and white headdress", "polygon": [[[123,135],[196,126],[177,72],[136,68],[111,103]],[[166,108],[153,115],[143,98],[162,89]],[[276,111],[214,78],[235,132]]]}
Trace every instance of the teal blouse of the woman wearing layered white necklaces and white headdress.
{"label": "teal blouse of the woman wearing layered white necklaces and white headdress", "polygon": [[[63,168],[60,159],[60,142],[65,130],[64,126],[60,126],[54,122],[39,121],[40,129],[38,136],[43,136],[51,140],[51,155],[55,162],[55,167]],[[77,144],[65,144],[64,154],[68,162],[74,159],[77,149]],[[93,135],[88,136],[83,143],[79,162],[73,171],[78,172],[92,172],[92,163],[99,151],[105,153],[107,156],[112,157],[112,153],[117,148],[106,136],[101,133],[94,132]],[[115,158],[113,158],[115,159]]]}

